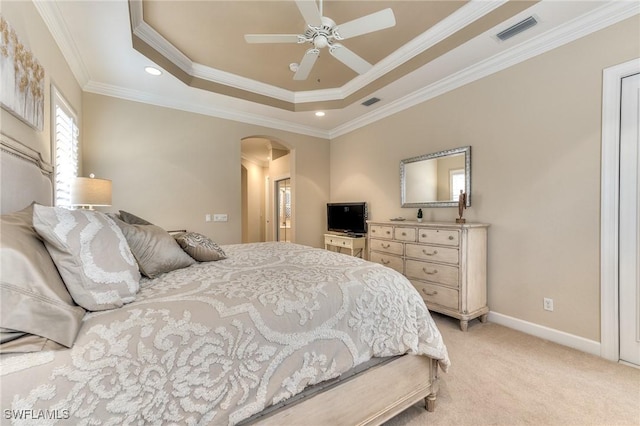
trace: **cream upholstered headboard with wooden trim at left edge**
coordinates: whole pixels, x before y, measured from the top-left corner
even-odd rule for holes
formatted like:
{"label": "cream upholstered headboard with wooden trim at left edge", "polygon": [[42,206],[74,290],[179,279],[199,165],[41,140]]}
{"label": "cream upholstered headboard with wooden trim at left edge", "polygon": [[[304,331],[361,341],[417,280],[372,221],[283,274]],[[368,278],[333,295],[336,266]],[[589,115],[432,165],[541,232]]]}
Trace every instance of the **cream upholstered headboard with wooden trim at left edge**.
{"label": "cream upholstered headboard with wooden trim at left edge", "polygon": [[20,210],[36,201],[53,204],[53,167],[39,152],[0,134],[0,212]]}

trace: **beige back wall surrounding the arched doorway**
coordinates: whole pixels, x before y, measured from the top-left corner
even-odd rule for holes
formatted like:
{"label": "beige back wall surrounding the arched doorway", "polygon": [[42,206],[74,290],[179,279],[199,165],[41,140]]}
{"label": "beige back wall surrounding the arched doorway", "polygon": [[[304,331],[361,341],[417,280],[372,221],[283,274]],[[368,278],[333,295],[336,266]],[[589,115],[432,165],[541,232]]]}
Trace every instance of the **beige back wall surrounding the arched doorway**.
{"label": "beige back wall surrounding the arched doorway", "polygon": [[[83,108],[84,170],[113,180],[109,210],[200,232],[220,244],[240,243],[240,141],[265,137],[295,152],[295,241],[321,246],[328,141],[91,93],[84,94]],[[229,221],[206,223],[207,213],[226,213]]]}

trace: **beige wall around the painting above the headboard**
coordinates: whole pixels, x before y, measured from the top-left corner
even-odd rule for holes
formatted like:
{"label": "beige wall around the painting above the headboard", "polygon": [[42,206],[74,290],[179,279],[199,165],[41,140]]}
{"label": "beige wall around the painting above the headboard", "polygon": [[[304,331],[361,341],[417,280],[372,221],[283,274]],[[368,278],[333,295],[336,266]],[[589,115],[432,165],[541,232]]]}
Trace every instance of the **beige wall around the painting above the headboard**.
{"label": "beige wall around the painting above the headboard", "polygon": [[[44,129],[34,130],[3,108],[0,109],[2,133],[42,153],[51,162],[51,84],[66,98],[82,121],[82,91],[71,73],[58,45],[53,40],[32,2],[2,2],[2,16],[16,31],[45,71]],[[4,188],[3,188],[4,189]]]}

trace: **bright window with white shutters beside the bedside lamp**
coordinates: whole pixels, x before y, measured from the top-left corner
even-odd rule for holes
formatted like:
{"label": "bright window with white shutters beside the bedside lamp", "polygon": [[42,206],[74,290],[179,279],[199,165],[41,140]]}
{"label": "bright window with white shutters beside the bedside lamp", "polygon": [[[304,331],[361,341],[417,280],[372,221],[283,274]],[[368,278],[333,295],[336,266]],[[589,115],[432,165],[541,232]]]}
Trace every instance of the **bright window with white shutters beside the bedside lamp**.
{"label": "bright window with white shutters beside the bedside lamp", "polygon": [[78,174],[78,119],[69,103],[52,86],[53,156],[56,206],[71,204],[71,183]]}

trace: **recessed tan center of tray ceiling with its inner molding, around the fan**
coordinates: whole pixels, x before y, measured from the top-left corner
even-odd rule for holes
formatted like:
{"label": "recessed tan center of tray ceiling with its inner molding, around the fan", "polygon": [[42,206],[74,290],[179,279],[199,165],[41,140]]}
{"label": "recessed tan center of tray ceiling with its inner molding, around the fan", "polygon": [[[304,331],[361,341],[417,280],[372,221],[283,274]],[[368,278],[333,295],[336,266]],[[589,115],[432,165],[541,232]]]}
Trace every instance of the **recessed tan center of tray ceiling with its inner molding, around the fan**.
{"label": "recessed tan center of tray ceiling with its inner molding, around the fan", "polygon": [[[186,84],[291,111],[342,108],[455,49],[537,1],[494,2],[484,14],[468,1],[324,1],[338,25],[391,8],[396,25],[342,44],[377,66],[360,76],[322,49],[311,74],[296,81],[309,44],[248,44],[245,34],[302,34],[294,1],[130,0],[133,46]],[[458,12],[455,14],[455,12]],[[192,72],[193,68],[199,72]],[[226,78],[225,78],[226,77]],[[221,83],[221,80],[227,80]],[[359,80],[352,93],[341,90]],[[305,93],[288,102],[281,92]],[[314,101],[314,92],[318,99]],[[327,92],[332,95],[327,96]],[[258,93],[260,93],[258,95]],[[323,96],[324,95],[324,96]]]}

